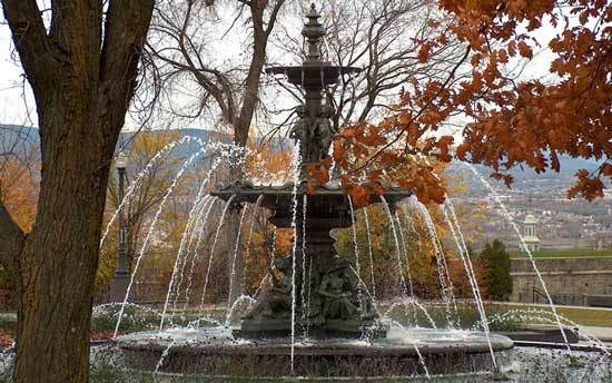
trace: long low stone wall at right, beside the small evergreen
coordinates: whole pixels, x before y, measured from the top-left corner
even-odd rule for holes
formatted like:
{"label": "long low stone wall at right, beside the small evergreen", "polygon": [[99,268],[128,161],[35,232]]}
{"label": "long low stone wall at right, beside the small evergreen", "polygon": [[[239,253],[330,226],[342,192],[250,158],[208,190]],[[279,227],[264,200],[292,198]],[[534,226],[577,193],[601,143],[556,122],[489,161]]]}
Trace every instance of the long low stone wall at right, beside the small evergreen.
{"label": "long low stone wall at right, beside the small evergreen", "polygon": [[[569,305],[586,305],[588,295],[604,294],[612,288],[612,257],[580,258],[536,258],[540,269],[553,301]],[[530,259],[512,259],[511,275],[514,287],[511,301],[545,303],[534,292],[542,291]]]}

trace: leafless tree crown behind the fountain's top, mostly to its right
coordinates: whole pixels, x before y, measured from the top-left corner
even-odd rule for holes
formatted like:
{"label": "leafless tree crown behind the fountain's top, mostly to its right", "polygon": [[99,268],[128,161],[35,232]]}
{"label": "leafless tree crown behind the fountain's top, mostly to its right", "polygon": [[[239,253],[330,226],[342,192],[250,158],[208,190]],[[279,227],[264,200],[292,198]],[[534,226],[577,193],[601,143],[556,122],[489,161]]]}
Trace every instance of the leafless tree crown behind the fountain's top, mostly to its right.
{"label": "leafless tree crown behind the fountain's top, mostly to its right", "polygon": [[[320,1],[325,24],[324,58],[334,65],[358,67],[362,71],[344,73],[327,89],[334,104],[330,117],[338,129],[353,121],[377,118],[395,102],[405,84],[413,78],[438,78],[450,70],[450,62],[462,55],[458,40],[448,41],[419,62],[421,40],[435,33],[428,21],[437,11],[433,0],[324,0]],[[306,58],[298,18],[280,23],[282,32],[274,42],[284,51],[283,60],[299,53]],[[287,62],[283,62],[286,65]],[[304,90],[278,85],[303,102]]]}

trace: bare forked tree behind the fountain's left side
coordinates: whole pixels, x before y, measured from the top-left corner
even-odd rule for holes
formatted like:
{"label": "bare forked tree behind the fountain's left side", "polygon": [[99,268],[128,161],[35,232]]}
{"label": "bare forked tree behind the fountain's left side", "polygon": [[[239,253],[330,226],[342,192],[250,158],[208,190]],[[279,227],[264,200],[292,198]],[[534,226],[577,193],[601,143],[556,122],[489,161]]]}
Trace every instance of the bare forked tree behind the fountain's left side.
{"label": "bare forked tree behind the fountain's left side", "polygon": [[[171,97],[168,108],[179,117],[214,117],[223,126],[229,127],[236,146],[246,147],[251,121],[259,106],[260,78],[268,40],[284,3],[285,0],[238,0],[220,2],[211,10],[209,6],[213,2],[161,1],[155,12],[148,49],[157,60],[162,86],[166,89],[182,89],[195,85],[197,89],[194,104],[187,101],[187,106],[177,105],[185,104],[185,97]],[[211,12],[228,11],[234,7],[234,22],[224,33],[223,26]],[[230,29],[238,28],[236,24],[240,21],[245,28],[238,33],[250,35],[244,51],[246,60],[226,57],[223,62],[218,62],[214,57],[211,41],[223,40]],[[235,180],[244,177],[243,169],[233,166],[238,163],[239,159],[230,161],[229,173]],[[238,209],[233,209],[226,219],[226,233],[237,233],[239,219]],[[234,237],[226,237],[228,246],[231,246]],[[233,278],[230,284],[236,287],[231,289],[230,302],[235,302],[244,291],[245,267],[239,247],[234,263],[235,267],[230,267],[234,272],[228,272]]]}

